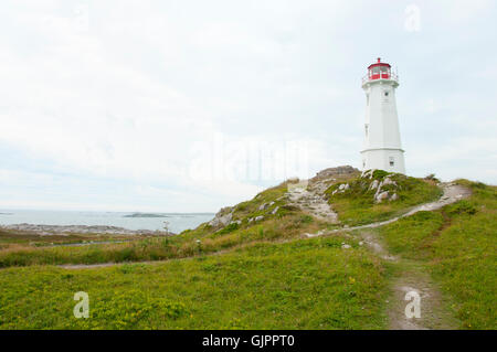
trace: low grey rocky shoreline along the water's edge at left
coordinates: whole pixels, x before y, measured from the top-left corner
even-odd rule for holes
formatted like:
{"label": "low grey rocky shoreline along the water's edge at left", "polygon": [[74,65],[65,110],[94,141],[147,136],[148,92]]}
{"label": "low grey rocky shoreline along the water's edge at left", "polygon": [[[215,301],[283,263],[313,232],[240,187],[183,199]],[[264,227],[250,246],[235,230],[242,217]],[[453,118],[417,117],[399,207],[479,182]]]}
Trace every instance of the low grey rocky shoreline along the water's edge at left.
{"label": "low grey rocky shoreline along the water's edge at left", "polygon": [[106,235],[172,235],[165,231],[154,230],[129,230],[107,225],[40,225],[40,224],[12,224],[0,225],[0,230],[13,230],[20,232],[35,233],[42,236],[61,234],[106,234]]}

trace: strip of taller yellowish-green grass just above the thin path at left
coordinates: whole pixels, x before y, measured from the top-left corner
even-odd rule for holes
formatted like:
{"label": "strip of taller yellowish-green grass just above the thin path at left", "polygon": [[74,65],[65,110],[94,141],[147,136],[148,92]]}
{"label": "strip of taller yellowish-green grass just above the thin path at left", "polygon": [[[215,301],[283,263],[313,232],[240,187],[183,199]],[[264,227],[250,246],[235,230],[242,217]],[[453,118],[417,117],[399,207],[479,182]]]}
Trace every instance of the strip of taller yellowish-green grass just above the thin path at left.
{"label": "strip of taller yellowish-green grass just above the thin path at left", "polygon": [[[81,247],[20,247],[0,250],[0,267],[29,265],[150,262],[210,254],[261,241],[279,241],[315,232],[319,224],[298,212],[230,231],[197,232],[195,236],[155,237],[129,243]],[[197,239],[200,238],[200,244]]]}

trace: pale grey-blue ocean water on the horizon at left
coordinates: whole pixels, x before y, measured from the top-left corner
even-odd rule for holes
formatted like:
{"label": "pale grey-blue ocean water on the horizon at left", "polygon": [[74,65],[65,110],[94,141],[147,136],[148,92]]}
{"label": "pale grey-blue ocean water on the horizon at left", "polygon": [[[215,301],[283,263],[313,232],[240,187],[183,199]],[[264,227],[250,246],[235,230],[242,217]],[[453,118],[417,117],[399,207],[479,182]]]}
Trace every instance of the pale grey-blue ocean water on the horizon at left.
{"label": "pale grey-blue ocean water on the horizon at left", "polygon": [[0,210],[0,225],[36,224],[36,225],[107,225],[129,230],[163,230],[169,222],[169,231],[180,233],[187,228],[195,228],[201,223],[214,217],[211,213],[152,213],[161,217],[126,217],[133,212],[75,212],[75,211],[31,211]]}

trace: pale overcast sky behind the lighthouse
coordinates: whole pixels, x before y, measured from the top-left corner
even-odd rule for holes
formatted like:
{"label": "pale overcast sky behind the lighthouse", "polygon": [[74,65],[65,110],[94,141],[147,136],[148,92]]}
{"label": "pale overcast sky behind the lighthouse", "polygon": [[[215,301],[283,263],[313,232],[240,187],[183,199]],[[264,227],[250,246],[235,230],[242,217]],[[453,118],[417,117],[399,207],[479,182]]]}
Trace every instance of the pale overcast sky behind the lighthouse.
{"label": "pale overcast sky behind the lighthouse", "polygon": [[497,183],[488,0],[0,3],[0,207],[216,211],[359,168],[398,67],[410,175]]}

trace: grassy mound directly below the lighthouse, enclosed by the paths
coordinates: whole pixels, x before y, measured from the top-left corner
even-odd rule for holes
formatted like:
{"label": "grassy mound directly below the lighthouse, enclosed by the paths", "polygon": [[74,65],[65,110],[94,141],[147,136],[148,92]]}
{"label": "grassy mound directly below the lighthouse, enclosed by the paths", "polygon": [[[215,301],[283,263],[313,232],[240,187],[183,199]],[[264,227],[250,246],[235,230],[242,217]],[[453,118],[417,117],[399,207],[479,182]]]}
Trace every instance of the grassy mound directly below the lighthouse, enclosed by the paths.
{"label": "grassy mound directly below the lighthouse, enclosed by the paths", "polygon": [[[396,182],[398,186],[387,185],[382,190],[396,193],[399,199],[374,203],[376,190],[369,190],[369,186],[373,180],[381,181],[387,175]],[[350,189],[343,193],[332,194],[342,183],[348,183]],[[437,200],[442,192],[433,181],[376,170],[373,179],[358,177],[336,183],[326,191],[326,194],[339,220],[347,225],[356,226],[391,218],[404,213],[411,206]]]}

